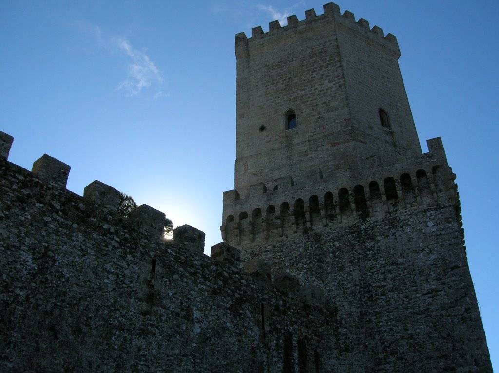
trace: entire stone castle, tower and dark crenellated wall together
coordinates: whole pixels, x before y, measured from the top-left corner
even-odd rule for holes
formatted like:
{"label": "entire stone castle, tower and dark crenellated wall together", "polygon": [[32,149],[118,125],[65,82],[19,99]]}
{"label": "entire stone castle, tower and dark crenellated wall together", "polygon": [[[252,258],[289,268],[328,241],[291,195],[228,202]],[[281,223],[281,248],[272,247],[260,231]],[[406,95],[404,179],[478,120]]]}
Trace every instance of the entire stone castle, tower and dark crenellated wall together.
{"label": "entire stone castle, tower and dark crenellated wall together", "polygon": [[236,35],[223,241],[70,167],[8,162],[6,372],[492,372],[442,141],[422,154],[395,37],[333,3]]}

